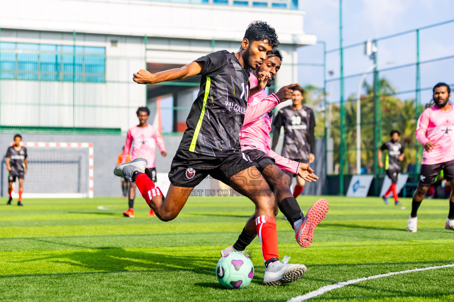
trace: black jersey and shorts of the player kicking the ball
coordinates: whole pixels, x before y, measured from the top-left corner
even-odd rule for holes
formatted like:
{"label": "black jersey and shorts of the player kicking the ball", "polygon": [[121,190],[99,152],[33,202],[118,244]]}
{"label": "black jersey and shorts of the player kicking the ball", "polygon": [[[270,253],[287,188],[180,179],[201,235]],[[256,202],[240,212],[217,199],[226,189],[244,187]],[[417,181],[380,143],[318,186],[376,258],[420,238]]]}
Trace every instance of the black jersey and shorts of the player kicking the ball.
{"label": "black jersey and shorts of the player kicking the ball", "polygon": [[239,138],[249,73],[227,50],[194,62],[204,62],[200,91],[186,120],[188,129],[173,158],[169,180],[175,186],[195,187],[209,174],[228,184],[229,177],[257,166],[241,152]]}

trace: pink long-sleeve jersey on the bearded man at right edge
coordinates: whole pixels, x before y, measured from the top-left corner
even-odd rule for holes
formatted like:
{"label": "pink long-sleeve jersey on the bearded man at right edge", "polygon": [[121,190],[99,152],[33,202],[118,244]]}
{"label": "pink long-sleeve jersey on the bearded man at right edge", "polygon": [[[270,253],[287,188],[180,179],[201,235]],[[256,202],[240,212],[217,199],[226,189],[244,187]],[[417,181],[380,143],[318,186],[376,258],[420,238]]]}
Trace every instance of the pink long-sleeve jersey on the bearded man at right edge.
{"label": "pink long-sleeve jersey on the bearded man at right edge", "polygon": [[423,151],[422,164],[433,165],[454,160],[454,107],[440,110],[436,105],[423,111],[416,127],[416,139],[423,145],[435,144],[431,152]]}

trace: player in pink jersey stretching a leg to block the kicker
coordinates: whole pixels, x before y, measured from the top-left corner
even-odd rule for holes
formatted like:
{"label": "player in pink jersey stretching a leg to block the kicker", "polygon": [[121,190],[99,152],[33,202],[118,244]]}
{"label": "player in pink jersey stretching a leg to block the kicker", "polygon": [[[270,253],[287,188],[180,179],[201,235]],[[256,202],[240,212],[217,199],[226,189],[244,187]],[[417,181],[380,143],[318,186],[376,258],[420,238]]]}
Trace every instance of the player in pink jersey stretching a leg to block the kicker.
{"label": "player in pink jersey stretching a leg to block the kicker", "polygon": [[[266,95],[265,85],[271,86],[277,71],[281,67],[281,61],[281,52],[273,49],[268,53],[268,57],[263,61],[262,65],[253,73],[250,73],[249,81],[253,88],[249,92],[247,110],[251,110],[253,106],[257,106],[261,102],[275,101],[273,94],[270,96]],[[260,81],[258,77],[261,79]],[[267,80],[263,81],[264,78],[267,78]],[[301,177],[304,177],[303,175],[306,170],[309,172],[313,172],[313,170],[306,163],[298,163],[284,158],[270,149],[271,121],[272,110],[256,120],[245,120],[240,132],[241,151],[247,154],[253,162],[258,164],[258,170],[265,177],[270,188],[275,192],[278,208],[287,217],[291,227],[295,230],[296,241],[301,246],[308,247],[314,238],[314,228],[326,216],[328,201],[319,199],[307,211],[306,216],[304,216],[290,190],[291,178],[282,169],[291,173],[300,174]],[[233,251],[244,252],[247,245],[257,236],[256,223],[257,219],[254,214],[248,219],[237,242],[222,250],[221,254],[225,255]],[[258,235],[262,242],[261,234]]]}

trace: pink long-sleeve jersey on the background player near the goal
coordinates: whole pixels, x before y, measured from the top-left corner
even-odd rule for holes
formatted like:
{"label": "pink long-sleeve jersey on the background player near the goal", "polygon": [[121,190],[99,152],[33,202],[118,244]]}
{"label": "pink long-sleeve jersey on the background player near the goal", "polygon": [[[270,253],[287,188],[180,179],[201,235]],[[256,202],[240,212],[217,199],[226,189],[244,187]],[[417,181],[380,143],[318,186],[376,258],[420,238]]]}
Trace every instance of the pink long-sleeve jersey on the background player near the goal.
{"label": "pink long-sleeve jersey on the background player near the goal", "polygon": [[122,163],[126,161],[131,145],[133,146],[131,160],[139,157],[145,158],[148,161],[147,168],[156,167],[156,145],[161,152],[166,151],[161,134],[150,124],[143,128],[138,126],[129,128],[124,144]]}

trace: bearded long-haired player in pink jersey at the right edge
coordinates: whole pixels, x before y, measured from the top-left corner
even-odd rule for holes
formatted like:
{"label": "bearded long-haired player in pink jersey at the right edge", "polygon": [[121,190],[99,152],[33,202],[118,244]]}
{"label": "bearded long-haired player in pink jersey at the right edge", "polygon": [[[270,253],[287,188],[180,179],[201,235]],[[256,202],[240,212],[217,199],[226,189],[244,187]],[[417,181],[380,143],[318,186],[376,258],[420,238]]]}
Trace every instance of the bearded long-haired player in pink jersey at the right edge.
{"label": "bearded long-haired player in pink jersey at the right edge", "polygon": [[[434,103],[418,119],[416,139],[424,145],[419,183],[413,194],[412,210],[407,230],[417,231],[416,215],[421,201],[435,177],[443,170],[444,178],[454,188],[454,109],[449,103],[451,89],[445,83],[434,86]],[[454,230],[454,195],[449,196],[449,214],[445,229]]]}

